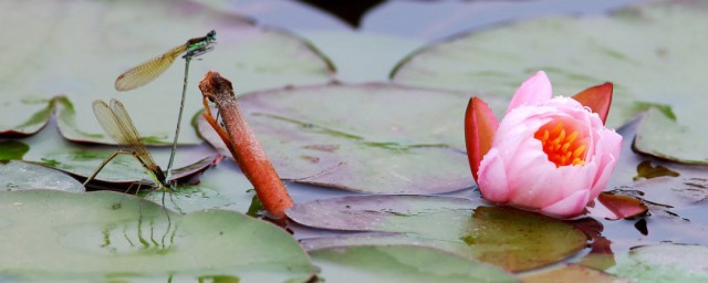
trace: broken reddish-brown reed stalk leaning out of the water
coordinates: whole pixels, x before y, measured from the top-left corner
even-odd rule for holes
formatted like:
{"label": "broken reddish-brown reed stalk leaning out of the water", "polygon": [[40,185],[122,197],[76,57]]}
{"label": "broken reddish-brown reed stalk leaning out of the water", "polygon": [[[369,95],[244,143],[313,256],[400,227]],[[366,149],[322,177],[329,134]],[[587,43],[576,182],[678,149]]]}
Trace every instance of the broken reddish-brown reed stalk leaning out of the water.
{"label": "broken reddish-brown reed stalk leaning out of the water", "polygon": [[[283,218],[293,201],[241,115],[231,82],[219,73],[209,71],[199,82],[199,90],[206,108],[201,115],[227,145],[241,171],[256,188],[256,193],[268,213],[274,219]],[[216,103],[226,129],[211,115],[207,99]]]}

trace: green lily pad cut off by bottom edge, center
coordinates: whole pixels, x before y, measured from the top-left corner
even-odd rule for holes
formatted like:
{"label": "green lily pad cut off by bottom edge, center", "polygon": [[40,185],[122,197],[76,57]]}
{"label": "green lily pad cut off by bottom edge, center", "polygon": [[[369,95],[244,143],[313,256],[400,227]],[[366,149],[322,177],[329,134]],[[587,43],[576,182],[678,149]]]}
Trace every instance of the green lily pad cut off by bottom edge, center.
{"label": "green lily pad cut off by bottom edge, center", "polygon": [[327,282],[518,282],[499,268],[413,245],[330,248],[310,255]]}

